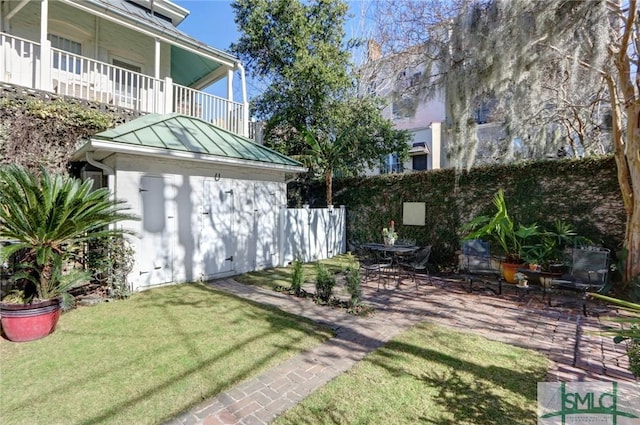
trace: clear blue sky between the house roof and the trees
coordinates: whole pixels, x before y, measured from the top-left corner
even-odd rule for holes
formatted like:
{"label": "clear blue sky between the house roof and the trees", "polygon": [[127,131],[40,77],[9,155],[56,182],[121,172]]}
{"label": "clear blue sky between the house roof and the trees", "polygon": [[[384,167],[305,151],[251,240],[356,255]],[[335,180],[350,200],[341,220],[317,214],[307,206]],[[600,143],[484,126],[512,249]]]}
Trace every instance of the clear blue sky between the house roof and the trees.
{"label": "clear blue sky between the house roof and the trees", "polygon": [[[240,34],[233,21],[234,13],[231,9],[231,0],[173,0],[180,7],[187,9],[189,16],[178,28],[216,49],[228,51],[231,43],[238,40]],[[351,15],[345,28],[347,38],[361,37],[366,28],[366,11],[370,1],[349,1],[349,14]],[[249,98],[260,91],[247,75],[247,91]],[[226,97],[226,83],[219,84],[209,93]],[[234,84],[235,85],[235,84]],[[240,100],[239,89],[234,90],[234,99]]]}

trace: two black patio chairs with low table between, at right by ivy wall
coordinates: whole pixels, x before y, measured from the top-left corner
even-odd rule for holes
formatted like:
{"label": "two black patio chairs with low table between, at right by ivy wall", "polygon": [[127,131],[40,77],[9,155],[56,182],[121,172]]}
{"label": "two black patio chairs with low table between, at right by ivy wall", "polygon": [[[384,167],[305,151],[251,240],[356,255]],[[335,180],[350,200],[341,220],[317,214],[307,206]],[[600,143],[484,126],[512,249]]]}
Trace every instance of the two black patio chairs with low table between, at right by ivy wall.
{"label": "two black patio chairs with low table between, at right by ivy wall", "polygon": [[[550,307],[576,304],[587,316],[588,293],[609,290],[610,251],[587,246],[568,251],[570,261],[564,271],[551,272],[522,265],[517,269],[519,280],[507,283],[503,277],[501,258],[491,255],[488,242],[472,239],[463,242],[459,270],[467,292],[490,290],[501,295],[505,289],[514,290],[519,298],[540,294]],[[572,299],[567,302],[567,295]],[[555,303],[554,303],[555,302]]]}

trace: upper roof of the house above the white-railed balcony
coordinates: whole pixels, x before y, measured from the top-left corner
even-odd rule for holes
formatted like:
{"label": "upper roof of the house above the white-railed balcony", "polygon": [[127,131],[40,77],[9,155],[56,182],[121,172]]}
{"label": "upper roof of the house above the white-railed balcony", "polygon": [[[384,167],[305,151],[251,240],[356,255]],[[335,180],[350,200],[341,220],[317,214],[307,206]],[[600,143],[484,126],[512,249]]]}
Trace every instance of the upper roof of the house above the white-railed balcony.
{"label": "upper roof of the house above the white-railed balcony", "polygon": [[[180,31],[174,23],[181,19],[170,19],[159,16],[157,11],[134,4],[126,0],[65,0],[68,4],[82,9],[92,10],[93,13],[109,17],[114,21],[126,20],[134,26],[152,32],[171,44],[171,78],[177,84],[195,89],[201,89],[226,77],[224,65],[233,68],[239,61],[233,55],[208,46],[186,33]],[[139,1],[139,0],[138,0]],[[168,3],[173,8],[178,6]],[[167,5],[167,6],[168,6]],[[188,11],[182,10],[185,16]],[[176,12],[176,15],[179,15]]]}

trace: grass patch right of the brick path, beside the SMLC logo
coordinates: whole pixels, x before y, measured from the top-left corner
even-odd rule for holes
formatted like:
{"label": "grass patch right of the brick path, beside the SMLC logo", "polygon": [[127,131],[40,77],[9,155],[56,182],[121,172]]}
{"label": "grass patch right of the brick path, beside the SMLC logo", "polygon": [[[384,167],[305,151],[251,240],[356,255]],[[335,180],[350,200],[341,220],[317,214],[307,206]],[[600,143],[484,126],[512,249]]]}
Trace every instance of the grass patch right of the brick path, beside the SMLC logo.
{"label": "grass patch right of the brick path, beside the SMLC logo", "polygon": [[547,367],[534,351],[423,323],[275,424],[535,424]]}

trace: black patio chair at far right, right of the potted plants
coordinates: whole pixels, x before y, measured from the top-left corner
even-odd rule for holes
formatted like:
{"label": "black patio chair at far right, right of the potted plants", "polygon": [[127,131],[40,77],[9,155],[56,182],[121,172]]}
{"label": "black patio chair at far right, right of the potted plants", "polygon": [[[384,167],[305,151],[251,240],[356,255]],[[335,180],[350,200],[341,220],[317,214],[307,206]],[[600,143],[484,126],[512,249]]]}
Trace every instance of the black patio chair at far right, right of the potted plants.
{"label": "black patio chair at far right, right of the potted plants", "polygon": [[[572,292],[577,295],[577,303],[587,316],[587,293],[605,293],[609,290],[610,251],[600,247],[576,248],[571,255],[571,271],[558,279],[551,280],[551,291],[557,293]],[[576,301],[570,302],[576,304]],[[567,305],[561,302],[555,306],[549,299],[549,306]]]}

